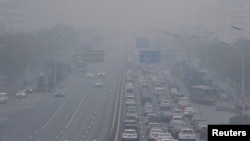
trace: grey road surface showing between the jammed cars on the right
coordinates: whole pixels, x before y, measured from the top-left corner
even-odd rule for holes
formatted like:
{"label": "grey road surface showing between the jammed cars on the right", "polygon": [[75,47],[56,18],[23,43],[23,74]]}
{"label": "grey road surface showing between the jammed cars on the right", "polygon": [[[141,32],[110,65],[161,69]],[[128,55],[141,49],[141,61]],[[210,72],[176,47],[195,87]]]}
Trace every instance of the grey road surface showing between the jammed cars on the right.
{"label": "grey road surface showing between the jammed cars on the right", "polygon": [[[166,70],[166,68],[168,68],[168,66],[164,66],[164,64],[153,64],[154,65],[154,68],[157,70],[157,74],[159,76],[162,76],[163,75],[163,72],[164,70]],[[146,78],[148,77],[147,75],[144,75]],[[135,79],[136,81],[136,79]],[[150,81],[148,80],[148,84],[150,84]],[[135,83],[137,84],[137,82]],[[189,91],[187,89],[187,87],[185,86],[185,84],[180,80],[178,79],[178,85],[180,86],[180,91],[183,92],[187,97],[189,97]],[[218,86],[220,86],[220,84],[217,84]],[[168,85],[165,85],[165,90],[166,90],[166,95],[169,95],[169,86]],[[224,88],[223,88],[224,89]],[[203,104],[198,104],[198,103],[194,103],[194,102],[191,102],[191,105],[195,108],[197,108],[200,112],[201,112],[201,115],[204,117],[204,119],[208,122],[208,124],[228,124],[228,121],[231,117],[234,116],[233,113],[230,113],[230,112],[227,112],[227,111],[217,111],[216,110],[216,105],[224,105],[224,106],[228,106],[232,109],[234,109],[234,105],[236,104],[236,102],[238,101],[238,98],[235,94],[232,93],[232,91],[229,91],[228,89],[224,89],[226,92],[228,92],[229,94],[233,95],[234,98],[233,100],[230,100],[228,102],[222,102],[222,101],[218,101],[217,104],[215,105],[203,105]],[[152,91],[152,86],[151,86],[151,93],[153,93]],[[140,94],[138,93],[138,89],[137,89],[137,92],[136,92],[136,101],[137,101],[137,109],[138,109],[138,114],[139,114],[139,119],[138,119],[138,122],[137,122],[137,126],[139,127],[139,140],[140,141],[146,141],[148,140],[148,135],[147,135],[147,127],[146,127],[146,124],[145,124],[145,116],[143,115],[143,107],[141,106],[141,100],[140,100]],[[156,102],[156,99],[154,96],[152,96],[152,99],[153,99],[153,105],[154,107],[157,109],[157,112],[159,112],[159,105],[157,104]],[[126,114],[126,106],[124,104],[124,101],[125,101],[125,96],[123,94],[123,109],[122,109],[122,118],[121,118],[121,121],[120,121],[120,124],[121,124],[121,128],[120,128],[120,132],[119,132],[119,140],[122,140],[121,139],[121,134],[123,132],[123,124],[124,124],[124,119],[125,119],[125,114]],[[172,103],[174,103],[172,101]],[[174,104],[176,106],[176,104]],[[249,111],[246,111],[246,113],[249,113]],[[185,122],[187,124],[188,127],[192,128],[192,126],[190,125],[190,121],[185,119]],[[162,125],[163,125],[163,129],[165,131],[167,131],[167,128],[168,128],[168,124],[167,123],[164,123],[162,122]],[[197,140],[199,140],[197,138]]]}

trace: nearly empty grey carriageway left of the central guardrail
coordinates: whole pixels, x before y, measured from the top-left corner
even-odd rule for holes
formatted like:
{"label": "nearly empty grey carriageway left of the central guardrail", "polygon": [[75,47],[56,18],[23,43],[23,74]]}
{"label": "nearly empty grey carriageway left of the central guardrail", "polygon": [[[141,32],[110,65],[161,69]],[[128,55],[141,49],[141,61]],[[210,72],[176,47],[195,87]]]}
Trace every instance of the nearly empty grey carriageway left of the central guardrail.
{"label": "nearly empty grey carriageway left of the central guardrail", "polygon": [[[122,55],[105,52],[105,61],[88,64],[93,78],[74,72],[60,84],[66,94],[34,93],[0,106],[1,141],[107,140],[113,120]],[[105,72],[105,78],[98,78]],[[94,87],[101,81],[103,87]]]}

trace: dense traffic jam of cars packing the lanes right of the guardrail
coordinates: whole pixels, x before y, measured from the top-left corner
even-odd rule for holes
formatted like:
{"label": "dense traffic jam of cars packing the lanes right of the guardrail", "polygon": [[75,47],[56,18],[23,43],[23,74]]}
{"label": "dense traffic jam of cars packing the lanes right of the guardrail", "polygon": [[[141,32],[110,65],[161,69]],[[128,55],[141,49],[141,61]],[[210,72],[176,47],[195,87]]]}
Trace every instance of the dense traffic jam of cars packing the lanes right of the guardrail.
{"label": "dense traffic jam of cars packing the lanes right of the guardrail", "polygon": [[127,69],[120,140],[207,140],[208,122],[181,91],[177,76],[152,65]]}

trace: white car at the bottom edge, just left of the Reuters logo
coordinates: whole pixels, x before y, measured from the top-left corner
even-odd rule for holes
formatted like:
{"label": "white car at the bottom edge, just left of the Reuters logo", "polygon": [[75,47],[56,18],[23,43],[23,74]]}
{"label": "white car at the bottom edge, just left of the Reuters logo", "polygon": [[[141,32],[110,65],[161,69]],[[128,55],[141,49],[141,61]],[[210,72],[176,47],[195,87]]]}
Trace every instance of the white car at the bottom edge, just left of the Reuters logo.
{"label": "white car at the bottom edge, just left of the Reuters logo", "polygon": [[193,129],[185,128],[181,129],[180,133],[178,134],[178,140],[196,140],[196,134]]}

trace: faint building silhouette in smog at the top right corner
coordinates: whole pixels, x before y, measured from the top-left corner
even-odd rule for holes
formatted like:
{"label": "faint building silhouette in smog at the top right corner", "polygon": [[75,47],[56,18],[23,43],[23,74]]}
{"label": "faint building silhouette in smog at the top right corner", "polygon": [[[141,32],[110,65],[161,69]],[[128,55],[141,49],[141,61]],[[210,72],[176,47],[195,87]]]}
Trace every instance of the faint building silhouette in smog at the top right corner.
{"label": "faint building silhouette in smog at the top right corner", "polygon": [[222,41],[232,43],[239,38],[249,37],[249,34],[231,28],[231,26],[237,26],[250,30],[249,8],[249,0],[217,1],[216,32]]}

